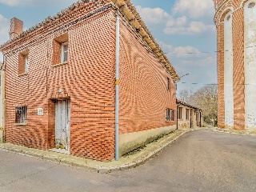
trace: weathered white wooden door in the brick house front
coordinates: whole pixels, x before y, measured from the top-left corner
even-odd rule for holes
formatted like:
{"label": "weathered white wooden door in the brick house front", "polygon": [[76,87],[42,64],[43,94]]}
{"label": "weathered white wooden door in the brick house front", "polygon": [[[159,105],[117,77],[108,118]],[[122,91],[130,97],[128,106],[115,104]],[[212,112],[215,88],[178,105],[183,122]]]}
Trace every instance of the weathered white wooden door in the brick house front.
{"label": "weathered white wooden door in the brick house front", "polygon": [[55,147],[70,150],[70,100],[55,104]]}

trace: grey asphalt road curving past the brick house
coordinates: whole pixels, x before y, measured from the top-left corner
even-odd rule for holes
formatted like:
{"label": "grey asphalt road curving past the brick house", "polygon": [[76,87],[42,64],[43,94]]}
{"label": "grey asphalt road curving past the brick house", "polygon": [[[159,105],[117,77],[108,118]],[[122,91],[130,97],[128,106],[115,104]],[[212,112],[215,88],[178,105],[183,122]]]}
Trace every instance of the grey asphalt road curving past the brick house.
{"label": "grey asphalt road curving past the brick house", "polygon": [[132,170],[98,174],[0,150],[0,191],[256,191],[256,137],[196,130]]}

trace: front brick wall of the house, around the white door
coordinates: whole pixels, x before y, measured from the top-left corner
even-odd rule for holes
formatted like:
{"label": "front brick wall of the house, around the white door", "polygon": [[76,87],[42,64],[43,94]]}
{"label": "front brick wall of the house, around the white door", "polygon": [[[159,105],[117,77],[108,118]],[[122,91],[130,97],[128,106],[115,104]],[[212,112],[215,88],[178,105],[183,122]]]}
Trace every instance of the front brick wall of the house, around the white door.
{"label": "front brick wall of the house, around the white door", "polygon": [[[104,29],[104,30],[102,30]],[[53,66],[53,42],[69,34],[69,59]],[[6,57],[6,142],[54,147],[54,99],[70,98],[70,154],[114,158],[114,34],[112,11],[48,35],[29,50],[29,73],[18,76],[18,55]],[[62,94],[58,90],[62,89]],[[15,106],[27,106],[26,126],[14,125]],[[44,115],[38,116],[37,109]]]}

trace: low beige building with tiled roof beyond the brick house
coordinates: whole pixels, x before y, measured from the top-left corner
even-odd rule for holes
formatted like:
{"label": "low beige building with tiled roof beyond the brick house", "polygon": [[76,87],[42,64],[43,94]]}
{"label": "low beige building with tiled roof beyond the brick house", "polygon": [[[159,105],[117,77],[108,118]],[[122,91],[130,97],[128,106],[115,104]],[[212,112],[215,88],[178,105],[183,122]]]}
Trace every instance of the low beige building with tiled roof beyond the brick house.
{"label": "low beige building with tiled roof beyond the brick house", "polygon": [[203,126],[202,110],[177,99],[177,128],[193,129]]}

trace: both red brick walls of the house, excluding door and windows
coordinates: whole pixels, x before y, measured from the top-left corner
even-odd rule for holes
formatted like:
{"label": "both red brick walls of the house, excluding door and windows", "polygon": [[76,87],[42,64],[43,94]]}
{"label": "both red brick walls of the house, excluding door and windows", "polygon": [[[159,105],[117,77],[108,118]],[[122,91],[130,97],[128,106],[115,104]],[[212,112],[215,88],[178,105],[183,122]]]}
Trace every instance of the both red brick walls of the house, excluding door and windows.
{"label": "both red brick walls of the house, excluding door and windows", "polygon": [[[88,3],[76,14],[66,15],[65,22],[95,10],[93,2]],[[55,30],[63,25],[62,19],[46,26],[46,31],[54,33],[39,38],[44,30],[39,28],[4,48],[15,49],[6,54],[6,142],[43,150],[54,148],[54,102],[69,98],[70,154],[110,161],[114,158],[115,11],[105,10]],[[176,122],[166,122],[166,108],[176,108],[173,78],[134,33],[121,19],[119,134]],[[56,59],[60,46],[54,45],[64,36],[65,41],[68,38],[68,62],[60,64]],[[21,74],[18,65],[24,51],[28,53],[28,74]],[[171,80],[170,90],[167,78]],[[26,125],[14,124],[15,106],[27,106]],[[43,116],[38,116],[38,108],[43,108]]]}

